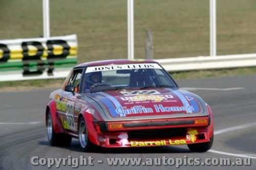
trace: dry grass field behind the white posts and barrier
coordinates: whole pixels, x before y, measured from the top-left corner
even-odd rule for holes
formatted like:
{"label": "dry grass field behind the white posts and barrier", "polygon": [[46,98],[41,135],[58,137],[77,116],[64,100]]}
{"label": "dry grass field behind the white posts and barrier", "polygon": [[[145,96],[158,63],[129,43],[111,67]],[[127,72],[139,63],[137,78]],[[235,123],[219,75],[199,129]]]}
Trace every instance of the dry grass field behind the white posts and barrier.
{"label": "dry grass field behind the white posts and barrier", "polygon": [[[0,0],[1,39],[42,35],[42,1]],[[209,1],[134,1],[135,58],[145,57],[146,29],[154,58],[209,55]],[[256,53],[256,1],[217,1],[217,54]],[[78,35],[78,62],[127,58],[126,0],[50,1],[51,36]]]}

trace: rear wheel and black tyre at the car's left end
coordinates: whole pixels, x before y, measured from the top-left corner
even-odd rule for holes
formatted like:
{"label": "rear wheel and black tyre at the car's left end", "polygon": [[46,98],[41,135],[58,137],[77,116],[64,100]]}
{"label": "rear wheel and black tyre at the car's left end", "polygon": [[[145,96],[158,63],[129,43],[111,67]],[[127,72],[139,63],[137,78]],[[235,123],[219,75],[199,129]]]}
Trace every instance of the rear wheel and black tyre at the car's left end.
{"label": "rear wheel and black tyre at the car's left end", "polygon": [[52,122],[52,115],[51,112],[48,112],[47,115],[47,137],[49,140],[50,145],[56,146],[56,145],[61,145],[61,146],[69,146],[72,137],[66,134],[58,134],[54,132],[53,129],[53,122]]}

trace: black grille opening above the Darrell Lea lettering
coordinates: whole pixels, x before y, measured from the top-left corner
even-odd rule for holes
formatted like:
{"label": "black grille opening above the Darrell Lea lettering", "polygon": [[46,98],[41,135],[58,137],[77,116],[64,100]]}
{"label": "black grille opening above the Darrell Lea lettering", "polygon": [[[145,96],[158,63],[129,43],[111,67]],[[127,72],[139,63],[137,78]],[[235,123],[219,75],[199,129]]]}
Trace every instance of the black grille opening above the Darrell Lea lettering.
{"label": "black grille opening above the Darrell Lea lettering", "polygon": [[149,138],[170,138],[177,136],[186,136],[187,128],[169,128],[169,129],[148,129],[129,131],[130,139],[149,139]]}

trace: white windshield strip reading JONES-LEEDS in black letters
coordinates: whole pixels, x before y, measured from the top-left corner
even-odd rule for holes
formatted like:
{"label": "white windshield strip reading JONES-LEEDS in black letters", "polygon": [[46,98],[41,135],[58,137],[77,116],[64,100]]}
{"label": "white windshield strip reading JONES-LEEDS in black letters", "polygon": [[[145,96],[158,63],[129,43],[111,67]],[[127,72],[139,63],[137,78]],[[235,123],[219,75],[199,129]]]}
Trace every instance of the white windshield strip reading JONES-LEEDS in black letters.
{"label": "white windshield strip reading JONES-LEEDS in black letters", "polygon": [[93,66],[86,69],[86,73],[95,71],[108,71],[108,70],[120,70],[120,69],[147,69],[158,68],[162,69],[157,63],[141,63],[141,64],[122,64],[122,65],[105,65],[105,66]]}

